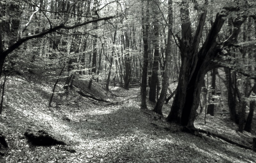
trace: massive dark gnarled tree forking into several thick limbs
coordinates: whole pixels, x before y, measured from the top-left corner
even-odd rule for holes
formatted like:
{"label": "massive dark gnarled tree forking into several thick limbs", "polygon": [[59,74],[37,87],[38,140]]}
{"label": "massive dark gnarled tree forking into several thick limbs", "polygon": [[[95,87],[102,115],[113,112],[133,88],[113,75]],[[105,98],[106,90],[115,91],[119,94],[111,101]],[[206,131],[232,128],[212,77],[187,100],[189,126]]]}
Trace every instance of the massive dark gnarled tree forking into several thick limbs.
{"label": "massive dark gnarled tree forking into several thick limbs", "polygon": [[[226,49],[232,47],[236,42],[236,38],[240,32],[240,26],[247,18],[247,14],[243,14],[244,7],[248,4],[245,1],[239,2],[234,6],[223,7],[216,14],[216,18],[212,23],[212,27],[206,37],[206,40],[199,47],[200,38],[206,19],[206,6],[208,1],[204,2],[204,6],[194,3],[195,9],[200,9],[196,30],[192,35],[191,21],[189,18],[189,2],[181,1],[181,38],[179,40],[181,67],[179,74],[179,82],[177,93],[174,97],[170,114],[167,117],[168,122],[177,122],[188,128],[194,127],[196,118],[196,109],[199,106],[199,99],[204,75],[207,71],[223,66],[220,62],[220,55],[225,55]],[[217,40],[218,34],[227,19],[228,14],[236,12],[233,19],[233,32],[225,41]]]}

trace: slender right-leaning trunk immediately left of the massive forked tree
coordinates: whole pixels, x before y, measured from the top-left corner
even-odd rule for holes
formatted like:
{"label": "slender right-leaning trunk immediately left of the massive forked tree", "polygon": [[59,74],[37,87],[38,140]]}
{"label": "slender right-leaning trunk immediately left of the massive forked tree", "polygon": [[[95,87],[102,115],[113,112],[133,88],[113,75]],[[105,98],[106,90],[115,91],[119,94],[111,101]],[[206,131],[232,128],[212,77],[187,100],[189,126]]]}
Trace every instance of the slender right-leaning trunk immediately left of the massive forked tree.
{"label": "slender right-leaning trunk immediately left of the massive forked tree", "polygon": [[172,0],[168,0],[168,36],[167,36],[167,46],[166,46],[166,57],[165,57],[165,69],[163,73],[163,86],[160,93],[160,97],[156,102],[156,106],[154,108],[154,112],[163,115],[162,107],[164,105],[164,100],[166,99],[166,92],[169,81],[169,71],[171,66],[171,44],[172,44]]}

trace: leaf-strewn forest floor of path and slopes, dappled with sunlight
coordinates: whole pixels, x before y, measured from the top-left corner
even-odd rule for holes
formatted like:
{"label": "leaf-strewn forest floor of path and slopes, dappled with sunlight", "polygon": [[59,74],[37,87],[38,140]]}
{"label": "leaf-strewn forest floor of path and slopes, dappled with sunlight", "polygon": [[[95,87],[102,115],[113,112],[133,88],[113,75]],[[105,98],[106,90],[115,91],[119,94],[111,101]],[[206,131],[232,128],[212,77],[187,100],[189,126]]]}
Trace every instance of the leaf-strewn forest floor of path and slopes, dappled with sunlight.
{"label": "leaf-strewn forest floor of path and slopes, dappled with sunlight", "polygon": [[[116,97],[93,81],[93,88],[87,91],[113,103],[98,102],[70,91],[56,94],[53,106],[57,107],[48,107],[54,80],[45,76],[42,73],[9,77],[0,115],[1,132],[9,148],[2,150],[1,163],[256,162],[252,150],[211,136],[194,136],[166,123],[150,111],[154,103],[148,102],[148,110],[141,110],[140,88],[111,87]],[[85,81],[82,83],[75,85],[87,86]],[[62,86],[58,85],[57,90]],[[164,117],[170,107],[171,101],[164,104]],[[248,146],[256,137],[236,132],[236,125],[220,116],[206,115],[204,124],[204,114],[199,114],[195,126]],[[33,146],[24,137],[27,129],[45,130],[76,152],[63,150],[65,145]]]}

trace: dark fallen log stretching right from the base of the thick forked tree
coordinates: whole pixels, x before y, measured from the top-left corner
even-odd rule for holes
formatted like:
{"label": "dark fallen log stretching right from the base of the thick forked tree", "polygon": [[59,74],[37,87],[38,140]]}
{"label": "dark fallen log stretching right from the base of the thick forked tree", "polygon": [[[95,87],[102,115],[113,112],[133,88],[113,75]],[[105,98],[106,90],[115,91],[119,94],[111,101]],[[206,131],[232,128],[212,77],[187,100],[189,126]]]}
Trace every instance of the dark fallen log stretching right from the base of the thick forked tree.
{"label": "dark fallen log stretching right from the base of the thick forked tree", "polygon": [[236,142],[228,139],[227,137],[224,137],[224,136],[219,135],[219,134],[211,133],[211,132],[206,131],[206,130],[201,130],[201,129],[196,129],[196,128],[195,129],[190,129],[190,128],[184,127],[182,131],[191,133],[191,134],[196,135],[196,136],[198,136],[197,134],[199,132],[205,133],[205,134],[207,134],[207,136],[212,136],[214,138],[218,137],[218,138],[220,138],[220,139],[222,139],[222,140],[224,140],[224,141],[226,141],[230,144],[236,145],[238,147],[241,147],[241,148],[244,148],[244,149],[250,149],[250,150],[252,149],[252,147],[250,147],[250,146],[246,146],[246,145],[243,145],[243,144],[236,143]]}

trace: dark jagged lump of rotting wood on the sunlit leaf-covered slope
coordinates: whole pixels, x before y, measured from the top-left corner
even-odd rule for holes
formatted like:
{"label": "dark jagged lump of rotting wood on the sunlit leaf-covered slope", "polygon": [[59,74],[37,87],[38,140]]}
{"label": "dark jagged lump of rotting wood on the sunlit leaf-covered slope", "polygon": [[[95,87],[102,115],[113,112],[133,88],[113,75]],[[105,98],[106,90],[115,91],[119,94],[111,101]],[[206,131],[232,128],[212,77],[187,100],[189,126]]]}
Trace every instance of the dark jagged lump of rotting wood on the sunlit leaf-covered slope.
{"label": "dark jagged lump of rotting wood on the sunlit leaf-covered slope", "polygon": [[39,130],[36,133],[32,133],[30,130],[27,130],[24,133],[24,136],[28,139],[33,145],[38,146],[50,146],[50,145],[67,145],[63,141],[55,139],[53,136],[49,135],[44,130]]}

